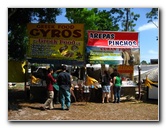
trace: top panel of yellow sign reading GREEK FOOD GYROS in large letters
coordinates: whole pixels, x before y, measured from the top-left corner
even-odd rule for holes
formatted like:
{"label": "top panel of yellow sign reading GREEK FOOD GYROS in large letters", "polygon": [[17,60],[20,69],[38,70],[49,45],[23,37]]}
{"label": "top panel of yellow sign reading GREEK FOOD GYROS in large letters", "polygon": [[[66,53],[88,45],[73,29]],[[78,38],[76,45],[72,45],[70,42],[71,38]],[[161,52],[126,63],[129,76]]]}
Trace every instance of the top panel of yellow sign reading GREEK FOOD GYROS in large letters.
{"label": "top panel of yellow sign reading GREEK FOOD GYROS in large letters", "polygon": [[84,24],[27,24],[30,38],[84,40]]}

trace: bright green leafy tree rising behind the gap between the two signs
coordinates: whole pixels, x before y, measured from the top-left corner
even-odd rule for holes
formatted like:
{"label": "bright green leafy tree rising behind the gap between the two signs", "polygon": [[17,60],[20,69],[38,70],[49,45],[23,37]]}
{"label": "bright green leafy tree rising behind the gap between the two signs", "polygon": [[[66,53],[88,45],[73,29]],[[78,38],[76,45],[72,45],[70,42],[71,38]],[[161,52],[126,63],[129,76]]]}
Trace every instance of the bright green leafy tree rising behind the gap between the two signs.
{"label": "bright green leafy tree rising behind the gap between the two signs", "polygon": [[118,25],[113,24],[109,11],[98,8],[66,8],[67,19],[70,23],[83,23],[85,28],[85,42],[87,42],[87,30],[117,31]]}

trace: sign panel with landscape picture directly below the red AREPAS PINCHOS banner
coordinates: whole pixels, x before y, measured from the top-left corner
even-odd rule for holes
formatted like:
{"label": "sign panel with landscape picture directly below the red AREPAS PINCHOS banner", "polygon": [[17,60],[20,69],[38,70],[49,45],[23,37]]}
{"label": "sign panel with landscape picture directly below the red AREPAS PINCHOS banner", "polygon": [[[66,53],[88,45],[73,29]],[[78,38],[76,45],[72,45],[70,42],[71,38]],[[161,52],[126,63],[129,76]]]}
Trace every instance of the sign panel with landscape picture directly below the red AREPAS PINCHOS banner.
{"label": "sign panel with landscape picture directly below the red AREPAS PINCHOS banner", "polygon": [[86,46],[88,62],[91,64],[123,64],[140,63],[139,48],[109,48]]}

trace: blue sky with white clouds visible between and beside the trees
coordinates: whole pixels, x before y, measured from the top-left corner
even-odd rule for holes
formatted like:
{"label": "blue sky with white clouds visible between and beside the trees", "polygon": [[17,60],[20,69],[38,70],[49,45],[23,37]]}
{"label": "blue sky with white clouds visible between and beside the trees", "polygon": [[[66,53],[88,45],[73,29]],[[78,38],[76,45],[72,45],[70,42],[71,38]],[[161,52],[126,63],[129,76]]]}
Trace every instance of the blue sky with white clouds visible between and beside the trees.
{"label": "blue sky with white clouds visible between and beside the trees", "polygon": [[[109,9],[110,8],[102,8]],[[150,59],[158,59],[159,42],[156,37],[159,35],[158,28],[153,23],[148,23],[146,13],[151,11],[151,8],[133,8],[135,14],[140,14],[139,19],[135,22],[135,31],[139,32],[140,43],[140,62],[145,60],[150,62]],[[154,21],[158,25],[158,20]],[[63,9],[62,15],[57,17],[57,23],[69,23],[65,18],[65,11]]]}

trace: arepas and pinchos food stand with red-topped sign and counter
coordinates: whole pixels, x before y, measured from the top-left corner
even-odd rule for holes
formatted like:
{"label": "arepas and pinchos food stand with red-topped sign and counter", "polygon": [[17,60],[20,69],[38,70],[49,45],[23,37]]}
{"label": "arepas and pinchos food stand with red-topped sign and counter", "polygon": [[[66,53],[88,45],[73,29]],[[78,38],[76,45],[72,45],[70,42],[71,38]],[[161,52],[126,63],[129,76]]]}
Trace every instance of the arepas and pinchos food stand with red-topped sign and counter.
{"label": "arepas and pinchos food stand with red-topped sign and counter", "polygon": [[109,65],[110,74],[117,68],[123,78],[121,94],[128,98],[135,97],[137,87],[133,67],[140,63],[138,35],[138,32],[88,31],[88,63],[101,64],[101,72]]}

